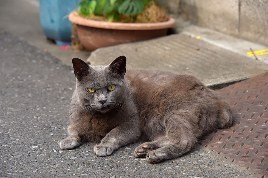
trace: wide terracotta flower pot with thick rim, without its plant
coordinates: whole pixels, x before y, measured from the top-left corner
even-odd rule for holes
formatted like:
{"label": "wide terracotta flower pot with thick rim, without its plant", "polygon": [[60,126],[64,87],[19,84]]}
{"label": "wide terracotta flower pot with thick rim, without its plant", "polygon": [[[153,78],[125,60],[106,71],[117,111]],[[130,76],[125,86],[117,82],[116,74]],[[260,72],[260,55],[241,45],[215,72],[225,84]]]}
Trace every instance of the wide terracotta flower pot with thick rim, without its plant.
{"label": "wide terracotta flower pot with thick rim, without its plant", "polygon": [[104,22],[85,19],[73,12],[69,14],[69,20],[77,24],[78,39],[90,51],[99,47],[164,36],[167,34],[167,29],[175,24],[173,18],[157,23]]}

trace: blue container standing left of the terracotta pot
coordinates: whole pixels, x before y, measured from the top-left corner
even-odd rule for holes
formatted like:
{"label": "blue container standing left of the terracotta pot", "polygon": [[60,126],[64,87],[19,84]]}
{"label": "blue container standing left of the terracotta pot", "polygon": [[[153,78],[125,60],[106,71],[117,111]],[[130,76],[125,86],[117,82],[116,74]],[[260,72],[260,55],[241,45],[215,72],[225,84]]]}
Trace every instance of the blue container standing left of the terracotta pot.
{"label": "blue container standing left of the terracotta pot", "polygon": [[70,45],[72,24],[68,14],[78,8],[82,0],[39,0],[40,22],[48,39],[57,45]]}

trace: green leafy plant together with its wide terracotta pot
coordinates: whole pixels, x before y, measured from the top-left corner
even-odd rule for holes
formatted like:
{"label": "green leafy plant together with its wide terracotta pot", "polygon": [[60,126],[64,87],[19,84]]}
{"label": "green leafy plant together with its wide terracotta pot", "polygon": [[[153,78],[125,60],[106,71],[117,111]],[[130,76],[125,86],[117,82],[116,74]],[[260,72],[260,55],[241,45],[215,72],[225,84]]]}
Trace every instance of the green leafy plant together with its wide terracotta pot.
{"label": "green leafy plant together with its wide terracotta pot", "polygon": [[174,26],[165,9],[149,0],[84,0],[69,14],[87,50],[164,36]]}

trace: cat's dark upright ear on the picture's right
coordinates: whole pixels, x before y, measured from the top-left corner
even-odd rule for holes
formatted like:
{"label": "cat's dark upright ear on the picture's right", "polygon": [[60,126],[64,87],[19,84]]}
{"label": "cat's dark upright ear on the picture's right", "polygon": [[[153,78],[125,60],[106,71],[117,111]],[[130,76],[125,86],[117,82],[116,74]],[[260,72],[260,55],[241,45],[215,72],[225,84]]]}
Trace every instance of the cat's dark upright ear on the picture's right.
{"label": "cat's dark upright ear on the picture's right", "polygon": [[126,73],[127,58],[126,56],[119,56],[112,63],[110,63],[109,68],[112,71],[115,71],[121,76],[124,76]]}

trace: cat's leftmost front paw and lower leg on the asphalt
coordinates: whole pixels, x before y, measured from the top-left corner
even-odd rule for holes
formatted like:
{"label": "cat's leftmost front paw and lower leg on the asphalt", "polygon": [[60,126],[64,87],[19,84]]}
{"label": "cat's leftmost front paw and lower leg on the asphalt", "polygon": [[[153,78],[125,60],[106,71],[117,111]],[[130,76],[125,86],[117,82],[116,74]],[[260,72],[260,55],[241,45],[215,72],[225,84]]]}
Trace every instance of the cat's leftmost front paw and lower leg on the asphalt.
{"label": "cat's leftmost front paw and lower leg on the asphalt", "polygon": [[68,134],[68,137],[60,141],[60,148],[62,150],[71,150],[82,144],[81,137],[71,126],[68,127]]}

